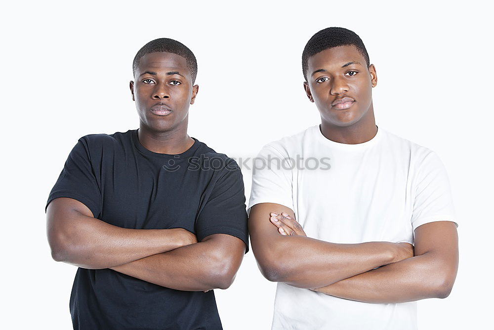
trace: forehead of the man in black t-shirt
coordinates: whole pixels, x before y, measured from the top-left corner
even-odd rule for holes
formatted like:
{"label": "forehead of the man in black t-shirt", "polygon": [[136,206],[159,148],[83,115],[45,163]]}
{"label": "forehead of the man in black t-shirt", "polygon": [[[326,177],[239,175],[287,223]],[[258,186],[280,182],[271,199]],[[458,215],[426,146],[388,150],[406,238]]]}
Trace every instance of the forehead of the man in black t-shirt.
{"label": "forehead of the man in black t-shirt", "polygon": [[141,73],[151,69],[153,71],[178,71],[184,76],[190,75],[185,57],[167,52],[154,52],[141,57],[137,72]]}

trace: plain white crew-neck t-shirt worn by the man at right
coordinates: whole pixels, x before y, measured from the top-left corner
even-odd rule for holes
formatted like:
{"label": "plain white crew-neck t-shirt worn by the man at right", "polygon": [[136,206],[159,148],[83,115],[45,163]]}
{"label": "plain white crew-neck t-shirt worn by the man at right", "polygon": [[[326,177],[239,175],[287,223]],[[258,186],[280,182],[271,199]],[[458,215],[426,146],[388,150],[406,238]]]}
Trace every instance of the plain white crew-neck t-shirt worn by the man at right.
{"label": "plain white crew-neck t-shirt worn by the man at right", "polygon": [[[254,164],[249,211],[258,203],[289,207],[307,236],[333,243],[413,243],[418,226],[455,219],[436,153],[382,128],[359,144],[330,141],[319,125],[268,143]],[[278,283],[273,329],[416,328],[416,302],[365,303]]]}

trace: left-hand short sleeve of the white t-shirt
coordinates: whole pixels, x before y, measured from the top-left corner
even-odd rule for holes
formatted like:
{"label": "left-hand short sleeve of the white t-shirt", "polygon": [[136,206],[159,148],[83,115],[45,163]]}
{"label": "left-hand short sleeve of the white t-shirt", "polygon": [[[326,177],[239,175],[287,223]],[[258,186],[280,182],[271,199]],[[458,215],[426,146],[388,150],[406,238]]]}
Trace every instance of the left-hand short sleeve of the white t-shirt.
{"label": "left-hand short sleeve of the white t-shirt", "polygon": [[255,204],[276,203],[294,210],[292,159],[274,146],[265,145],[254,159],[248,211]]}

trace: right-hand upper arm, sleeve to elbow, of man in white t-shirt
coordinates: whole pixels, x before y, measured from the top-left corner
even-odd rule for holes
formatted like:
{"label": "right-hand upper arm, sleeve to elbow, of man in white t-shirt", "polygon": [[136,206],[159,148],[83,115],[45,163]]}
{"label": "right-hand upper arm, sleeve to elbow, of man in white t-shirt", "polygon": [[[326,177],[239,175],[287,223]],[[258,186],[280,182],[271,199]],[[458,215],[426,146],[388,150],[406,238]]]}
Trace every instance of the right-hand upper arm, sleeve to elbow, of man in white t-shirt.
{"label": "right-hand upper arm, sleeve to elbow, of man in white t-shirt", "polygon": [[447,296],[458,271],[458,234],[452,221],[435,221],[415,229],[415,256],[427,255],[434,267],[437,287]]}

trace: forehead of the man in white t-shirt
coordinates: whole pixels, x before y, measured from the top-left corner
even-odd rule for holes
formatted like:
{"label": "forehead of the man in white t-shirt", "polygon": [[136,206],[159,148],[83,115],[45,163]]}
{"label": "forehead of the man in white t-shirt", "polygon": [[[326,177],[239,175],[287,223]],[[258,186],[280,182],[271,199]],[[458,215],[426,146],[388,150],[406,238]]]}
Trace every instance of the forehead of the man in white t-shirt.
{"label": "forehead of the man in white t-shirt", "polygon": [[338,46],[325,49],[315,55],[309,57],[307,64],[309,67],[309,75],[318,69],[329,68],[331,66],[341,67],[348,62],[359,62],[366,66],[364,56],[359,52],[357,47],[353,45]]}

